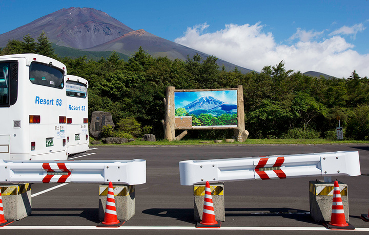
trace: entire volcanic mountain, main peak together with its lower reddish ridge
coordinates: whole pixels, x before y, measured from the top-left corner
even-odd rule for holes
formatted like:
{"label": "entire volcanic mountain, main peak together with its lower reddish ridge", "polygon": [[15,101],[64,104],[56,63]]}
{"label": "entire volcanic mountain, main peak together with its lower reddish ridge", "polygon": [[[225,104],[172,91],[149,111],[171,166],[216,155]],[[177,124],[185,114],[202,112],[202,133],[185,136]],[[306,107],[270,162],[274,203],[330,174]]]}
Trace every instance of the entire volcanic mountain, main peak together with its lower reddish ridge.
{"label": "entire volcanic mountain, main peak together with its lower reddish ridge", "polygon": [[[71,51],[67,48],[74,48],[85,49],[87,56],[90,56],[91,52],[116,51],[131,57],[138,51],[139,46],[142,46],[154,57],[167,56],[170,59],[181,60],[186,60],[187,55],[192,58],[195,54],[201,55],[203,59],[209,57],[207,54],[160,38],[145,30],[134,31],[102,11],[74,7],[63,8],[1,34],[0,47],[6,46],[11,39],[23,40],[27,34],[36,39],[43,31],[49,41],[56,45],[55,51],[60,55],[68,55]],[[217,64],[220,67],[224,65],[228,71],[236,67],[235,64],[220,59]],[[251,72],[250,69],[243,67],[238,67],[238,70],[244,74]]]}

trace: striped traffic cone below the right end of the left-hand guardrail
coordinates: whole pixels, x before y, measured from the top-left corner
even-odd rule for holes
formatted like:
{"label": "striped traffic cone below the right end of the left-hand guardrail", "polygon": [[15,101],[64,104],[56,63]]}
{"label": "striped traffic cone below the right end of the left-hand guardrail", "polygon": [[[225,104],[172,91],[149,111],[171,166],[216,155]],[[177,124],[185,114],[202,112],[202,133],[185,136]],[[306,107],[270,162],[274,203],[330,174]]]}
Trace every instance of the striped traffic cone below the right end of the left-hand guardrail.
{"label": "striped traffic cone below the right end of the left-hand guardrail", "polygon": [[96,227],[120,227],[124,222],[125,221],[120,222],[117,218],[113,183],[109,182],[104,221],[99,223]]}

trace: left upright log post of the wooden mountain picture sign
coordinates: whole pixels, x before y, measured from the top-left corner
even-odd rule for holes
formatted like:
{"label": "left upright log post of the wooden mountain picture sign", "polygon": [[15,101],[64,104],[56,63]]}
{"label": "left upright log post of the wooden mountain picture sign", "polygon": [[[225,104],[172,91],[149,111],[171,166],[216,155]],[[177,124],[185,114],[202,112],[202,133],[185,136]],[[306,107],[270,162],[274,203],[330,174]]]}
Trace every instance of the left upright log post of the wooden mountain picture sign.
{"label": "left upright log post of the wooden mountain picture sign", "polygon": [[164,102],[165,105],[165,119],[163,121],[164,126],[164,138],[172,141],[175,139],[175,113],[174,113],[174,86],[167,87],[167,96]]}

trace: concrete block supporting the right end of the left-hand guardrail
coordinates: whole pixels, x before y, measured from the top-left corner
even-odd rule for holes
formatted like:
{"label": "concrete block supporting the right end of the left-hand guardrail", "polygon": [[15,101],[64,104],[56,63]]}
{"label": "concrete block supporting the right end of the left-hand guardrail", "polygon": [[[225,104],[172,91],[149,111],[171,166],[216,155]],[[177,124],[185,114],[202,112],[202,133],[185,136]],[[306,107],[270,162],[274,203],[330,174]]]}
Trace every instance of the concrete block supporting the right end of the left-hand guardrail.
{"label": "concrete block supporting the right end of the left-hand guardrail", "polygon": [[[108,184],[99,186],[99,220],[105,217],[105,207],[108,196]],[[135,186],[113,185],[115,207],[118,220],[128,221],[135,214]]]}

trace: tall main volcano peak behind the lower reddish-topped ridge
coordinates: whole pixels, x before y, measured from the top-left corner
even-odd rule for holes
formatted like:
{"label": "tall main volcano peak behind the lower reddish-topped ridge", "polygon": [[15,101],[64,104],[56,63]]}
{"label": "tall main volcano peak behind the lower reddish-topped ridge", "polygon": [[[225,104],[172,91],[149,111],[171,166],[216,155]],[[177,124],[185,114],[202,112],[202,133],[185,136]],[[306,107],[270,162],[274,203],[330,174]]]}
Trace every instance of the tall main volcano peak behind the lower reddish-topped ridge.
{"label": "tall main volcano peak behind the lower reddish-topped ridge", "polygon": [[92,8],[63,8],[1,34],[0,47],[4,47],[11,39],[22,40],[26,34],[37,38],[42,31],[56,45],[84,49],[120,37],[133,29]]}

